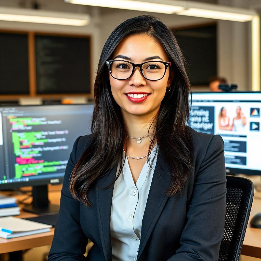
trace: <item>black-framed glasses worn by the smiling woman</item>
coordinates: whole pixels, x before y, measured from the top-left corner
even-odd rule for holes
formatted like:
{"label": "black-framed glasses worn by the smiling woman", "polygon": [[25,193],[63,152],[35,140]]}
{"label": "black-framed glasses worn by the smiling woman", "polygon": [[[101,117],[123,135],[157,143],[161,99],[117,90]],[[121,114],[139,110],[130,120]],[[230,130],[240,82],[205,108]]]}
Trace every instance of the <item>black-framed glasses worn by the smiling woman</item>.
{"label": "black-framed glasses worn by the smiling woman", "polygon": [[134,72],[135,67],[140,68],[143,77],[150,81],[162,79],[166,73],[167,67],[171,62],[149,61],[144,63],[132,63],[124,60],[106,61],[110,75],[117,80],[127,80]]}

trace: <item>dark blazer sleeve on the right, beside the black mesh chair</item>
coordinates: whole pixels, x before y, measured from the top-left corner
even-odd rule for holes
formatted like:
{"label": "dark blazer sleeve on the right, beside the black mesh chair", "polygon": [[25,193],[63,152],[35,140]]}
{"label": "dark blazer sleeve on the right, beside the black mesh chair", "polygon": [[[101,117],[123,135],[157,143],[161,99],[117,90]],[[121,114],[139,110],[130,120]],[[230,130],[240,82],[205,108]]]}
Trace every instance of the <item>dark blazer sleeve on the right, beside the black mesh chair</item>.
{"label": "dark blazer sleeve on the right, beside the black mesh chair", "polygon": [[214,135],[195,176],[181,247],[168,261],[217,261],[226,213],[224,141]]}

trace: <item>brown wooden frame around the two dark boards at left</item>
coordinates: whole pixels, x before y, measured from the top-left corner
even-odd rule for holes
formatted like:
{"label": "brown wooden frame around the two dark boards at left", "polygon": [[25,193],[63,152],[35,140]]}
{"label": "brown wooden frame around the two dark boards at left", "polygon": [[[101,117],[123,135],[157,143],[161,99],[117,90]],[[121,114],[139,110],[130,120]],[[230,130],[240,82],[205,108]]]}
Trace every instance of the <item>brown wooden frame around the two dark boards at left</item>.
{"label": "brown wooden frame around the two dark boards at left", "polygon": [[[86,97],[93,98],[93,88],[91,86],[92,78],[92,37],[91,35],[83,34],[65,34],[54,32],[40,32],[40,31],[17,31],[1,29],[0,33],[13,33],[13,34],[27,34],[28,39],[28,71],[29,71],[29,94],[0,94],[0,100],[18,100],[20,98],[49,98],[57,99],[66,96],[69,97]],[[90,43],[90,93],[57,93],[57,94],[37,94],[36,90],[36,65],[35,65],[35,35],[47,35],[58,37],[75,37],[87,38]]]}

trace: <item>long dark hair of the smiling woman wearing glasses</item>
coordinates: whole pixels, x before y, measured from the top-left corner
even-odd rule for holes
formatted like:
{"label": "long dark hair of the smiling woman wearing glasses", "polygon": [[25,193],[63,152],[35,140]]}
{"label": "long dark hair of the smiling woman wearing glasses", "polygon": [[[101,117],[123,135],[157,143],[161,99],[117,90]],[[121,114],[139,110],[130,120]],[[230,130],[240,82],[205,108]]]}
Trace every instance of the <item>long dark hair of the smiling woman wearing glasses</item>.
{"label": "long dark hair of the smiling woman wearing glasses", "polygon": [[112,59],[115,48],[124,37],[142,33],[150,35],[163,46],[170,58],[171,69],[174,70],[171,91],[165,95],[158,114],[153,118],[155,135],[149,145],[150,152],[157,141],[157,150],[161,150],[170,169],[172,181],[166,191],[167,196],[182,193],[192,169],[192,140],[186,126],[189,118],[191,86],[182,52],[173,33],[164,22],[153,15],[133,17],[113,30],[100,55],[93,90],[92,140],[76,163],[69,185],[73,197],[81,200],[85,206],[91,206],[87,197],[90,186],[95,184],[98,178],[107,175],[115,164],[120,162],[116,181],[123,167],[122,151],[127,132],[120,106],[111,95],[108,67],[105,61]]}

